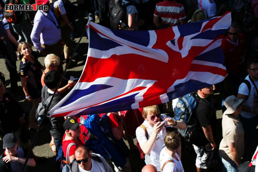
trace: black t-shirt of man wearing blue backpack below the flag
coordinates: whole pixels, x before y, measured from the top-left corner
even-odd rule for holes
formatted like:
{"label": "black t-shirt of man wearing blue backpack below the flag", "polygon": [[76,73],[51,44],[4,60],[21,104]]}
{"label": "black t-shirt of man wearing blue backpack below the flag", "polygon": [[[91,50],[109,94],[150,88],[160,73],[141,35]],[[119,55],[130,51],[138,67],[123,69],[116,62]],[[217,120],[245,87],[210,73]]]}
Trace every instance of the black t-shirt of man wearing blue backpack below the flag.
{"label": "black t-shirt of man wearing blue backpack below the flag", "polygon": [[211,103],[210,99],[202,99],[199,96],[197,96],[197,100],[199,100],[198,105],[196,107],[196,119],[197,119],[197,125],[199,126],[200,132],[201,132],[201,138],[199,138],[199,142],[202,143],[202,145],[206,145],[209,143],[207,138],[205,137],[205,134],[202,130],[202,127],[211,126],[212,135],[215,139],[216,137],[216,110],[214,106]]}

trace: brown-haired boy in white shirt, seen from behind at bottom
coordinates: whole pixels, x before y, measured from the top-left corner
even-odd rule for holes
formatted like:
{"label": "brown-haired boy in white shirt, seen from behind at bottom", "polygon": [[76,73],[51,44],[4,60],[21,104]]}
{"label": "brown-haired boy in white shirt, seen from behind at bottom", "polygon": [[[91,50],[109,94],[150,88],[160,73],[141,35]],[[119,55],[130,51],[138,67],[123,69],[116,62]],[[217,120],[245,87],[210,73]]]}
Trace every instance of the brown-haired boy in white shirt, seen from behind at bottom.
{"label": "brown-haired boy in white shirt, seen from behind at bottom", "polygon": [[164,143],[166,147],[160,152],[161,171],[184,172],[181,162],[181,138],[178,132],[169,132]]}

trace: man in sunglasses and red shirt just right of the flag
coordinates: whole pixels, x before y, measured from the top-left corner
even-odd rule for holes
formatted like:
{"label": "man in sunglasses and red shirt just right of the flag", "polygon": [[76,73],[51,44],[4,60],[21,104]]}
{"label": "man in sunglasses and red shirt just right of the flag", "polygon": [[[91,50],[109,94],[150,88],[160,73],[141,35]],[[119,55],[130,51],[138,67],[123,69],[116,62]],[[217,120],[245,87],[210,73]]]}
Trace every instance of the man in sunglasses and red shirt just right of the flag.
{"label": "man in sunglasses and red shirt just right of the flag", "polygon": [[[225,98],[237,93],[237,85],[240,81],[245,61],[245,36],[240,33],[239,24],[232,22],[227,36],[222,40],[221,47],[224,54],[224,64],[229,74],[224,81]],[[244,76],[242,76],[244,77]]]}

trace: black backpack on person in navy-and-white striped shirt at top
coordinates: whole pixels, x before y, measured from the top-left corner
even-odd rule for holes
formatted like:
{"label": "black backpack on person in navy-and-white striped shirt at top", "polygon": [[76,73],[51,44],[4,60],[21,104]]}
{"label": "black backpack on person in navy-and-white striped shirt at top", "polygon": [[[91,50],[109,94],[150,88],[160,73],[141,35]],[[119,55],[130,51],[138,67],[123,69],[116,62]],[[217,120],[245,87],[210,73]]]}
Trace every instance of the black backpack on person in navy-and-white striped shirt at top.
{"label": "black backpack on person in navy-and-white striped shirt at top", "polygon": [[[124,22],[125,24],[127,23],[127,15],[126,15],[126,7],[129,5],[133,5],[132,2],[128,2],[124,5],[121,5],[121,0],[116,2],[115,0],[110,0],[110,25],[111,28],[117,29],[118,25],[120,24],[120,21]],[[127,25],[127,24],[126,24]]]}

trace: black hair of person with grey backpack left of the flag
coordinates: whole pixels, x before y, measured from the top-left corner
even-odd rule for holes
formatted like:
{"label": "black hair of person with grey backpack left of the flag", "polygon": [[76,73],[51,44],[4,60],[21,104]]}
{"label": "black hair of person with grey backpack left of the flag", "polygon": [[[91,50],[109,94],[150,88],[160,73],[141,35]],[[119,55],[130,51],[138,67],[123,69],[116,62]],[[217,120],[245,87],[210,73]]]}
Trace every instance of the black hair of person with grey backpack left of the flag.
{"label": "black hair of person with grey backpack left of the flag", "polygon": [[59,72],[52,70],[46,73],[44,77],[44,82],[49,89],[54,89],[57,87],[59,79]]}

